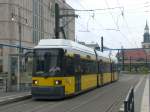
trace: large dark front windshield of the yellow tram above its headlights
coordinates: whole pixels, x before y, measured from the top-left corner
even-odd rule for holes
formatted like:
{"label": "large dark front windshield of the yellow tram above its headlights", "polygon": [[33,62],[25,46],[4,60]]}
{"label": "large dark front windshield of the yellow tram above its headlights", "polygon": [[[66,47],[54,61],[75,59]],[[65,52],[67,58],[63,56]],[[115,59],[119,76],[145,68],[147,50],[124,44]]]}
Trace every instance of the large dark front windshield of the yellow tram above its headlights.
{"label": "large dark front windshield of the yellow tram above its headlights", "polygon": [[36,49],[34,51],[33,76],[62,75],[63,49]]}

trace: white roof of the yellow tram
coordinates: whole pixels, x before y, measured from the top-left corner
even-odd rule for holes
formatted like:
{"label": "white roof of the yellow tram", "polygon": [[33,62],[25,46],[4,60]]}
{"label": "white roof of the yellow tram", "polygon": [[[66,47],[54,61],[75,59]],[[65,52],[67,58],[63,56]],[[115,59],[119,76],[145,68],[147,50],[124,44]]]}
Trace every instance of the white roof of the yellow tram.
{"label": "white roof of the yellow tram", "polygon": [[[89,48],[87,46],[81,45],[77,42],[74,42],[72,40],[66,40],[66,39],[42,39],[40,40],[39,44],[34,47],[35,49],[44,49],[44,48],[63,48],[63,49],[76,49],[79,51],[91,53],[94,53],[94,49]],[[100,52],[96,51],[98,56],[108,60],[109,59],[109,53],[108,52]]]}

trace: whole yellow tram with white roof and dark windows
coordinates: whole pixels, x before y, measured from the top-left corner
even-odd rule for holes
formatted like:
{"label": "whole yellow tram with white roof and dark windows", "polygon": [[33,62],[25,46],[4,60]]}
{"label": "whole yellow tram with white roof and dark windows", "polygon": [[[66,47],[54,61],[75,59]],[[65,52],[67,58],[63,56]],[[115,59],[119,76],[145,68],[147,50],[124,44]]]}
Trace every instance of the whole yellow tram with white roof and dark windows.
{"label": "whole yellow tram with white roof and dark windows", "polygon": [[43,39],[33,54],[34,99],[61,99],[118,80],[116,60],[71,40]]}

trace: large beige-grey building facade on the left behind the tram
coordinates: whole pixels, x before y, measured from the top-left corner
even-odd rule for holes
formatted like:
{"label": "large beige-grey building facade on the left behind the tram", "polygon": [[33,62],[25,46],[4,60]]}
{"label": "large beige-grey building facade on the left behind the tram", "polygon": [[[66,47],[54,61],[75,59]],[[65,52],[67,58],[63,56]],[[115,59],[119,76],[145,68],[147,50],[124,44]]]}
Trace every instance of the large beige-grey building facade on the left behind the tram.
{"label": "large beige-grey building facade on the left behind the tram", "polygon": [[[9,78],[18,74],[16,47],[33,48],[41,39],[55,38],[55,4],[60,7],[60,15],[74,14],[65,0],[0,0],[0,74]],[[60,18],[61,26],[67,39],[74,40],[75,17]]]}

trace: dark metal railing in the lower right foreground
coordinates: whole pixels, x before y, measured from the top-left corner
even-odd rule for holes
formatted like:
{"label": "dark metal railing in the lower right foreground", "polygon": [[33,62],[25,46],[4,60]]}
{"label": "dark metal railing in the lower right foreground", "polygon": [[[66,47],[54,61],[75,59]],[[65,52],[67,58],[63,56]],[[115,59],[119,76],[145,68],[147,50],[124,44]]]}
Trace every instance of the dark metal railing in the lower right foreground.
{"label": "dark metal railing in the lower right foreground", "polygon": [[124,101],[124,112],[134,112],[134,88],[131,87]]}

